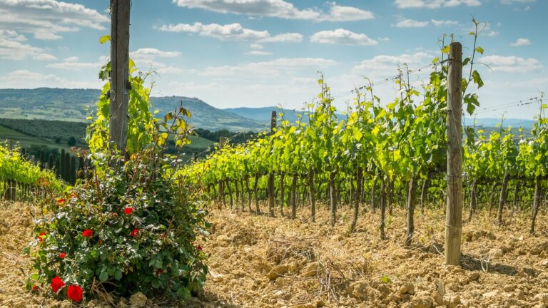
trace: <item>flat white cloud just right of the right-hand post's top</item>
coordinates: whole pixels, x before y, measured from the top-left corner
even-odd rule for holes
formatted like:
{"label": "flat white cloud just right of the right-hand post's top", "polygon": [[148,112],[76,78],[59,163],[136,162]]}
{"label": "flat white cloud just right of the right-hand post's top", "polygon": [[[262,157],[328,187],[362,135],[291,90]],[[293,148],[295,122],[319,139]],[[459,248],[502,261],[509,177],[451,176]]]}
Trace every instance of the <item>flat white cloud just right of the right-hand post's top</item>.
{"label": "flat white cloud just right of the right-hand post's top", "polygon": [[503,73],[529,73],[542,69],[542,63],[536,58],[521,58],[517,56],[484,56],[480,62],[493,71]]}

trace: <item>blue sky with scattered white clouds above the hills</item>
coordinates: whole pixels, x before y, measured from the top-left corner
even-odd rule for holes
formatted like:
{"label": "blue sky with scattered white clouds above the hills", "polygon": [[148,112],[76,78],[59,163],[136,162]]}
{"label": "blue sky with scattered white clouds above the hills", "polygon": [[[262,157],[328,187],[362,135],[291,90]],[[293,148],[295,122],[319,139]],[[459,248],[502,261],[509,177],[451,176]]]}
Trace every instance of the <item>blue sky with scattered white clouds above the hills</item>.
{"label": "blue sky with scattered white clouds above the hills", "polygon": [[[470,56],[475,18],[477,117],[534,118],[529,99],[548,92],[547,14],[547,0],[133,0],[130,56],[156,71],[153,96],[300,109],[321,73],[341,111],[365,78],[383,104],[400,96],[386,79],[440,56],[444,35]],[[108,1],[0,0],[0,16],[0,88],[101,88]],[[412,86],[429,69],[413,71]]]}

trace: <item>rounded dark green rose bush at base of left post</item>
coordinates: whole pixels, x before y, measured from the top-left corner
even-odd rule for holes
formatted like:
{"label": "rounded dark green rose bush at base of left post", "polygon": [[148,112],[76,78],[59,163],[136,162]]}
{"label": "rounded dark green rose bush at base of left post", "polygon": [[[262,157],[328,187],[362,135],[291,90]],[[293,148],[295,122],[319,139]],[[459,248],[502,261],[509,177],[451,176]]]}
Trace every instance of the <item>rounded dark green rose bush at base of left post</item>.
{"label": "rounded dark green rose bush at base of left post", "polygon": [[71,285],[87,295],[190,296],[208,272],[205,254],[193,244],[208,227],[205,212],[166,176],[170,166],[152,149],[129,160],[97,155],[94,164],[103,180],[72,188],[56,201],[54,215],[37,220],[27,288],[51,294],[52,279],[60,277],[61,297]]}

